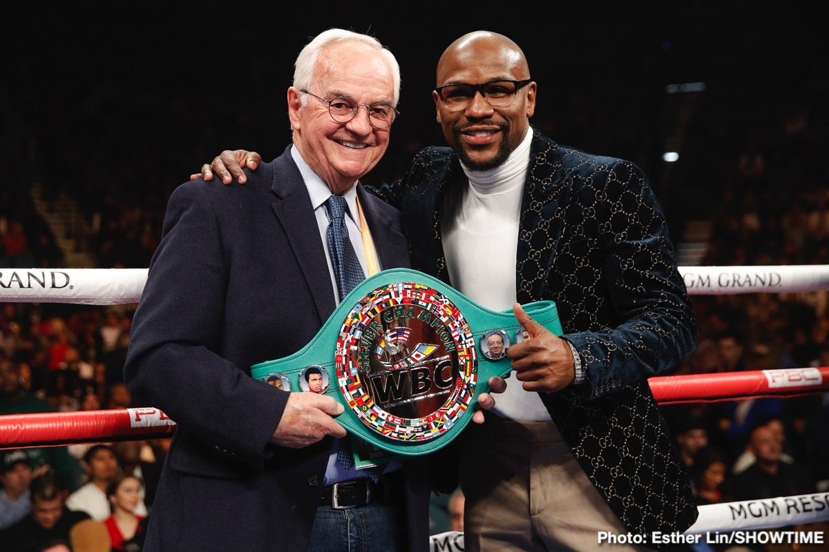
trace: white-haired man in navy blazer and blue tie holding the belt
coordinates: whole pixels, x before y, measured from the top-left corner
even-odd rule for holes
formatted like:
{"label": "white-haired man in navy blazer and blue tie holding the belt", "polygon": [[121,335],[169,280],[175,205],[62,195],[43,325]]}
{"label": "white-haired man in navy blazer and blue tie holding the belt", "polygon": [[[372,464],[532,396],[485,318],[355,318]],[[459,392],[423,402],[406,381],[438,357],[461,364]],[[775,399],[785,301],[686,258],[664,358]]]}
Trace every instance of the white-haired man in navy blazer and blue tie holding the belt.
{"label": "white-haired man in navy blazer and blue tie holding the belt", "polygon": [[125,367],[178,427],[145,552],[428,549],[422,462],[387,463],[375,482],[337,461],[337,401],[250,377],[303,348],[366,275],[409,265],[400,214],[358,183],[399,89],[374,38],[322,32],[295,63],[284,154],[244,187],[172,194]]}

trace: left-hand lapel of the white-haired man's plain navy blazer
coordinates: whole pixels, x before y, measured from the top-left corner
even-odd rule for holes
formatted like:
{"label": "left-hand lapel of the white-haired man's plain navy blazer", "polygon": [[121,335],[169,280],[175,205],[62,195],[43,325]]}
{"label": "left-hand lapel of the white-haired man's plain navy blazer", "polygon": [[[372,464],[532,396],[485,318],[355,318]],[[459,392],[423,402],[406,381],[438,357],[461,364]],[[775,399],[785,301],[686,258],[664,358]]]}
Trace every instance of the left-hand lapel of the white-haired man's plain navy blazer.
{"label": "left-hand lapel of the white-haired man's plain navy blazer", "polygon": [[291,245],[293,256],[303,271],[314,300],[320,324],[334,311],[336,301],[328,272],[325,249],[319,237],[317,218],[302,175],[291,159],[290,146],[274,161],[272,207]]}

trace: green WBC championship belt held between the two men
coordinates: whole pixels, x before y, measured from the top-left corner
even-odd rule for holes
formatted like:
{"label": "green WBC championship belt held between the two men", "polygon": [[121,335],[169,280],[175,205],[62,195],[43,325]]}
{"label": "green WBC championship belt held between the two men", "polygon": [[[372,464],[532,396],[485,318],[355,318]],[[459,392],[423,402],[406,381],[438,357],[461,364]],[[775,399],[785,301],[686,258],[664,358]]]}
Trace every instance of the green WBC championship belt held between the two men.
{"label": "green WBC championship belt held between the two men", "polygon": [[[561,335],[555,303],[523,308]],[[511,310],[485,309],[432,276],[396,268],[351,290],[304,348],[251,374],[284,391],[332,396],[345,407],[337,422],[379,449],[427,454],[466,427],[490,377],[511,372],[505,353],[522,333]]]}

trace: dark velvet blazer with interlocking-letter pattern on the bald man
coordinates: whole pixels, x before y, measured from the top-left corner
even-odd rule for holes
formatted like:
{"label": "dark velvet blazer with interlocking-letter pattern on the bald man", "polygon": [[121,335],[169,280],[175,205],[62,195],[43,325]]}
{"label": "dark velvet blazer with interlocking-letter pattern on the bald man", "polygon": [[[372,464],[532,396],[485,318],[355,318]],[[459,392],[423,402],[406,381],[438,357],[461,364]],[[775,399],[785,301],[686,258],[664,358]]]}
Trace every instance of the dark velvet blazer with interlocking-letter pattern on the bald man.
{"label": "dark velvet blazer with interlocking-letter pattern on the bald man", "polygon": [[[685,530],[691,485],[647,377],[696,348],[696,317],[662,209],[633,163],[559,146],[532,129],[517,299],[554,300],[587,382],[541,393],[575,458],[629,530]],[[376,193],[404,214],[412,266],[448,282],[441,218],[468,185],[448,147],[420,151]]]}

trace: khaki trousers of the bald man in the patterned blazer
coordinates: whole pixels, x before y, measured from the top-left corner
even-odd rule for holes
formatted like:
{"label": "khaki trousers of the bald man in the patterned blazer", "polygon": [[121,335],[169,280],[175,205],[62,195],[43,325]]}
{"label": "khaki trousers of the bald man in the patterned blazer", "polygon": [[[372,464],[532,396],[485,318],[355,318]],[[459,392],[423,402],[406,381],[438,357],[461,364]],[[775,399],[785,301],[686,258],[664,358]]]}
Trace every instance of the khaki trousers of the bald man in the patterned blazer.
{"label": "khaki trousers of the bald man in the patterned blazer", "polygon": [[599,531],[626,535],[553,422],[487,413],[470,424],[461,455],[466,552],[649,550],[599,545]]}

